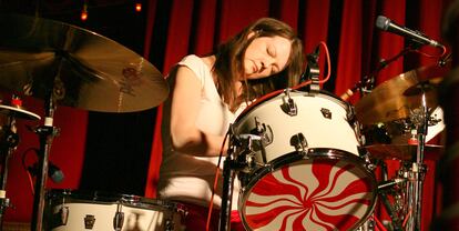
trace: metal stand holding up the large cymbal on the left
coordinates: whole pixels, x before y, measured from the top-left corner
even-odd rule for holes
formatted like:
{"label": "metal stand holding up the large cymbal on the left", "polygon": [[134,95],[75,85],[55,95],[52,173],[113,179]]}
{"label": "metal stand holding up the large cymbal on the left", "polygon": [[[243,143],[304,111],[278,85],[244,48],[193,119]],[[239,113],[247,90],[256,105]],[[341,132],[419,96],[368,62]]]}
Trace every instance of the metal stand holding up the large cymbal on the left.
{"label": "metal stand holding up the large cymbal on the left", "polygon": [[51,143],[59,134],[59,128],[53,125],[53,117],[55,111],[55,100],[53,92],[49,93],[45,101],[44,124],[37,128],[35,133],[40,138],[39,152],[39,173],[37,173],[35,191],[33,198],[32,230],[42,231],[43,212],[44,212],[44,193],[48,179],[48,163],[51,150]]}

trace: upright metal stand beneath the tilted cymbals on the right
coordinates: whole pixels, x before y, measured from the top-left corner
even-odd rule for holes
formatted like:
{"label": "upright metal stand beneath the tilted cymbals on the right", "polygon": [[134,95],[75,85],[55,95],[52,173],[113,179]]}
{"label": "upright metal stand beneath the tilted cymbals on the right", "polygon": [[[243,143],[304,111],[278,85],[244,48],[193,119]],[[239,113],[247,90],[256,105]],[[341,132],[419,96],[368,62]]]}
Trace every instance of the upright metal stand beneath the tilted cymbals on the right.
{"label": "upright metal stand beneath the tilted cymbals on the right", "polygon": [[411,215],[408,218],[406,230],[421,230],[421,211],[422,211],[422,187],[426,175],[427,167],[424,163],[426,135],[429,122],[429,110],[426,101],[426,91],[422,88],[421,98],[422,116],[417,124],[417,150],[416,160],[411,162],[410,171],[408,172],[411,183],[408,187],[408,204],[412,209]]}

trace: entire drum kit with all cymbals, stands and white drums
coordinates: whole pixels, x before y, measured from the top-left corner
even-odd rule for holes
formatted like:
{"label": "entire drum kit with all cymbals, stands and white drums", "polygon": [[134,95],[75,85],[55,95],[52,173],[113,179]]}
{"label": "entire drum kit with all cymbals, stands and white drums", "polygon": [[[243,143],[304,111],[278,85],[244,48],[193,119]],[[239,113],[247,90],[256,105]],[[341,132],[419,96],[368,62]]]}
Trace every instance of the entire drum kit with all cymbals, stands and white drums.
{"label": "entire drum kit with all cymbals, stands and white drums", "polygon": [[[0,104],[2,189],[6,195],[9,154],[18,145],[16,119],[41,120],[22,108],[19,94],[44,101],[32,230],[51,217],[65,228],[181,230],[181,204],[124,195],[45,191],[48,158],[59,128],[58,104],[102,112],[132,112],[160,104],[169,93],[161,73],[145,59],[94,32],[67,23],[0,14],[0,86],[14,92]],[[371,230],[380,199],[394,230],[419,230],[424,153],[445,124],[436,102],[440,66],[408,71],[379,84],[356,106],[323,90],[285,89],[245,110],[231,125],[224,164],[221,229],[226,230],[235,175],[242,185],[238,210],[247,230]],[[436,157],[427,157],[436,158]],[[395,179],[378,182],[377,162],[400,160]],[[397,190],[396,190],[397,189]],[[396,191],[397,204],[388,194]],[[70,211],[71,210],[71,211]],[[88,215],[88,211],[95,215]],[[109,217],[111,213],[114,218]],[[47,217],[45,214],[47,213]],[[132,220],[143,214],[145,220]],[[178,214],[178,215],[177,215]],[[84,218],[84,223],[79,219]],[[94,227],[94,219],[106,227]],[[134,222],[136,221],[136,222]],[[102,222],[103,223],[103,222]],[[100,222],[98,222],[101,225]]]}

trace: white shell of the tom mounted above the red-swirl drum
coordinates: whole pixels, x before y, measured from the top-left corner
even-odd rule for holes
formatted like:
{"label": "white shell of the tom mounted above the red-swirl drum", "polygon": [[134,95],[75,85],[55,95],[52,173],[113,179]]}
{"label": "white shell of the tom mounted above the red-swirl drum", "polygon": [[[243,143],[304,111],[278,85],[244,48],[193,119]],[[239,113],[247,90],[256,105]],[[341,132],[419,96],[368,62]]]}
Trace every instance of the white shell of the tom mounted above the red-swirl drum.
{"label": "white shell of the tom mounted above the red-swirl drum", "polygon": [[[290,145],[290,139],[298,133],[306,138],[307,148],[333,148],[358,155],[359,142],[348,121],[350,108],[347,103],[324,93],[294,91],[289,97],[296,104],[296,116],[283,111],[282,106],[287,103],[288,97],[282,93],[243,113],[236,120],[236,133],[253,133],[256,128],[255,118],[269,127],[273,142],[265,147],[267,162],[296,151]],[[327,111],[329,118],[325,114]],[[259,155],[257,161],[263,162]]]}

